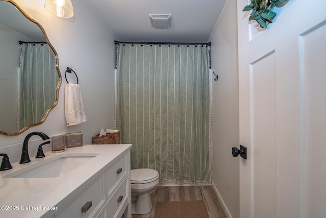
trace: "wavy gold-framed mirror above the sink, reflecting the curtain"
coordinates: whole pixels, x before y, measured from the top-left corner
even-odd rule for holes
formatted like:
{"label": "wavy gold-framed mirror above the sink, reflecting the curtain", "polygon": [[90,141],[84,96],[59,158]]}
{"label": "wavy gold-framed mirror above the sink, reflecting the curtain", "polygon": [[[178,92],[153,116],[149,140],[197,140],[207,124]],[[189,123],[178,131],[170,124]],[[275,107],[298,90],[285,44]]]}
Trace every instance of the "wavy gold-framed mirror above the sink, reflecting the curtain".
{"label": "wavy gold-framed mirror above the sink, reflecting the curtain", "polygon": [[0,0],[0,133],[42,124],[58,103],[61,81],[58,54],[40,23]]}

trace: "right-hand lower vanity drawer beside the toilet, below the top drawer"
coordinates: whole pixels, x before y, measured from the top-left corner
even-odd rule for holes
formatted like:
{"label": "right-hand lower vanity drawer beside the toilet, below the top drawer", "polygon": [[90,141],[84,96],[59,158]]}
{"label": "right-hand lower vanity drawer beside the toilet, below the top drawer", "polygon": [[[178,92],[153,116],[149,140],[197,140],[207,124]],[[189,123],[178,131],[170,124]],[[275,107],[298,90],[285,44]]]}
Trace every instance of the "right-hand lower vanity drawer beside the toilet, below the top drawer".
{"label": "right-hand lower vanity drawer beside the toilet, below the top drawer", "polygon": [[[122,215],[121,210],[125,210],[125,203],[128,202],[128,177],[126,177],[121,185],[119,186],[118,190],[114,193],[114,195],[108,200],[106,206],[106,215],[107,217],[117,217],[117,215]],[[120,218],[119,217],[119,218]]]}

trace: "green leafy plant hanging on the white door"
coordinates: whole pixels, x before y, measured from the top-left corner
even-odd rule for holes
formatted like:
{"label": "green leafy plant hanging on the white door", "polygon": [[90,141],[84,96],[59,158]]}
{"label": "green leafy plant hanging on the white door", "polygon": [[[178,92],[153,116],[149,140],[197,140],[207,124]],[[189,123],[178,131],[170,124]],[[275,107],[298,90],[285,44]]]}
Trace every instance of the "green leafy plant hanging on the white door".
{"label": "green leafy plant hanging on the white door", "polygon": [[273,11],[278,2],[286,3],[288,0],[251,0],[250,5],[243,8],[242,11],[252,10],[249,21],[256,20],[261,28],[266,28],[273,22],[276,12]]}

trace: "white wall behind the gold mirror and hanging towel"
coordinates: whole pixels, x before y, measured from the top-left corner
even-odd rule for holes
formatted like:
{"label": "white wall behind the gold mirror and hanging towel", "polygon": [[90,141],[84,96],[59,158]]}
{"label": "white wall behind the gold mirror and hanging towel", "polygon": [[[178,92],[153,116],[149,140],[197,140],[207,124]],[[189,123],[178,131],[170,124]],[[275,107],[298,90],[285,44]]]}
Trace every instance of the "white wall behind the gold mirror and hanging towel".
{"label": "white wall behind the gold mirror and hanging towel", "polygon": [[[58,53],[63,80],[58,105],[49,113],[45,122],[18,136],[0,135],[0,153],[9,153],[12,162],[18,161],[21,143],[24,137],[33,131],[41,131],[48,136],[83,132],[84,144],[92,143],[92,136],[102,128],[113,128],[114,125],[115,35],[103,25],[83,0],[71,1],[75,15],[70,19],[49,14],[44,9],[45,1],[15,2],[45,29]],[[66,127],[64,115],[64,73],[67,66],[78,75],[87,115],[87,122],[72,127]],[[35,139],[38,137],[31,139],[30,156],[35,156],[34,151],[37,150],[37,145],[33,143],[40,142],[33,142]],[[20,151],[17,152],[17,148]]]}

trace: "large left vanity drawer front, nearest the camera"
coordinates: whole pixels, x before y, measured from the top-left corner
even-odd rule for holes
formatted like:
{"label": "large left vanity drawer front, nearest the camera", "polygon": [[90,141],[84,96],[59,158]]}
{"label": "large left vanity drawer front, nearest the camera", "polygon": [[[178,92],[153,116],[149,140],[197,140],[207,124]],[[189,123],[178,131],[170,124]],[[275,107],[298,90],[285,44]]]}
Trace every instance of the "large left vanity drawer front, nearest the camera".
{"label": "large left vanity drawer front, nearest the camera", "polygon": [[[90,217],[93,216],[96,211],[105,202],[105,191],[104,191],[104,176],[100,176],[95,180],[89,187],[87,187],[80,195],[68,204],[62,211],[55,214],[55,217]],[[91,202],[87,204],[88,202]],[[82,212],[84,207],[86,212]]]}

